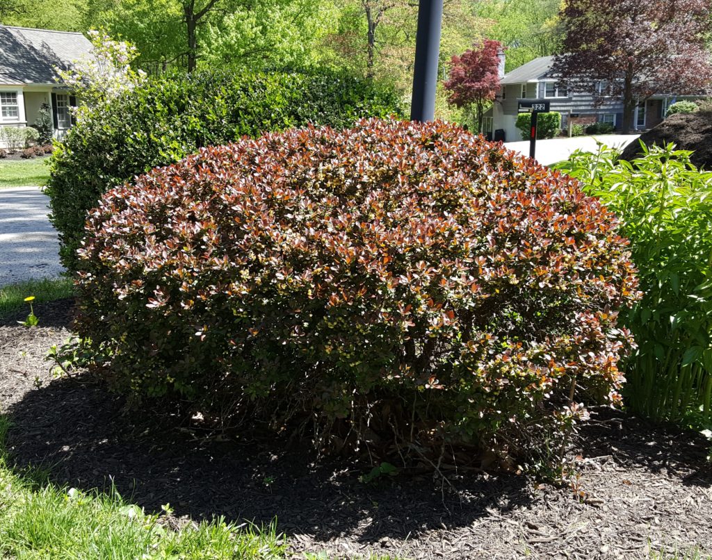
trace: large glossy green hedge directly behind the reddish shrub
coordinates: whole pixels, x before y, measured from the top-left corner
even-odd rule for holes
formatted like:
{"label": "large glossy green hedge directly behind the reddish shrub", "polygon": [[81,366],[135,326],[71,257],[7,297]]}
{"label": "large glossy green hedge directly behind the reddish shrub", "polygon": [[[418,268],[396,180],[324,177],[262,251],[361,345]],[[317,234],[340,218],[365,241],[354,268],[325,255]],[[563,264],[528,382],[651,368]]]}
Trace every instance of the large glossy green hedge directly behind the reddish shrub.
{"label": "large glossy green hedge directly behind the reddish shrub", "polygon": [[51,159],[46,193],[63,265],[75,270],[87,211],[137,174],[200,147],[303,127],[343,128],[361,117],[400,115],[398,97],[334,73],[194,73],[157,78],[70,130]]}

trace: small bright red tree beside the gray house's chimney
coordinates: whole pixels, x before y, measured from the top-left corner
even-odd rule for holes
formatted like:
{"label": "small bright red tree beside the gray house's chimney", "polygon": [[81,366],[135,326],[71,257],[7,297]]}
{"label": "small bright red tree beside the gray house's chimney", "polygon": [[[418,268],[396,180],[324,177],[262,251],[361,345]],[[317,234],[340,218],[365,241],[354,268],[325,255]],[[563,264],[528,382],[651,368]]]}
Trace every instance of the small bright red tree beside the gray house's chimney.
{"label": "small bright red tree beside the gray house's chimney", "polygon": [[501,49],[499,41],[484,39],[476,48],[450,60],[450,75],[444,83],[449,91],[448,102],[459,108],[474,105],[478,132],[482,130],[485,106],[495,100],[499,91]]}

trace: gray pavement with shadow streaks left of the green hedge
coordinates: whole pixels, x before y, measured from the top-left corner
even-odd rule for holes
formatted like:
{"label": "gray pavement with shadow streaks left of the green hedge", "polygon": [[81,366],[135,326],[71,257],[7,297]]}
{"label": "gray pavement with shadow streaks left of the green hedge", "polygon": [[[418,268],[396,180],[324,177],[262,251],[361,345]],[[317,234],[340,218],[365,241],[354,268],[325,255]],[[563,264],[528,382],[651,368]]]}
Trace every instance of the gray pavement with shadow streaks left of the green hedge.
{"label": "gray pavement with shadow streaks left of the green hedge", "polygon": [[37,186],[0,189],[0,286],[63,272],[48,202]]}

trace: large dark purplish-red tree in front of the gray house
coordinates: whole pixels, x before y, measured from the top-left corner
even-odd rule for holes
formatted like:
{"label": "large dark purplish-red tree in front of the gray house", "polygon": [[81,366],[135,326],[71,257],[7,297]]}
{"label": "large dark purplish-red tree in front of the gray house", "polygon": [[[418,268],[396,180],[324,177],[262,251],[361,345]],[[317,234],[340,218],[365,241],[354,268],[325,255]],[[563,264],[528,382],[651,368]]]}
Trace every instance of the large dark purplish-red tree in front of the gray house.
{"label": "large dark purplish-red tree in front of the gray house", "polygon": [[712,83],[709,0],[567,0],[553,74],[570,90],[623,100],[623,131],[651,95],[702,95]]}

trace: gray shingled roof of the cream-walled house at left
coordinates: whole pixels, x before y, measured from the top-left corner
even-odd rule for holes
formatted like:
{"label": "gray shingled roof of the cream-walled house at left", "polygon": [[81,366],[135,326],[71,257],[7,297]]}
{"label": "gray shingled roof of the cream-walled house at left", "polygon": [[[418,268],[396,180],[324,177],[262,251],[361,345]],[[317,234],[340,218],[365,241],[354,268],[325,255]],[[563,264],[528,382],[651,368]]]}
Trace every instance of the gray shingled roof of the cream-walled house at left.
{"label": "gray shingled roof of the cream-walled house at left", "polygon": [[54,83],[54,66],[67,68],[91,48],[81,33],[0,25],[0,84]]}

